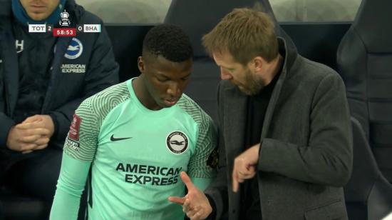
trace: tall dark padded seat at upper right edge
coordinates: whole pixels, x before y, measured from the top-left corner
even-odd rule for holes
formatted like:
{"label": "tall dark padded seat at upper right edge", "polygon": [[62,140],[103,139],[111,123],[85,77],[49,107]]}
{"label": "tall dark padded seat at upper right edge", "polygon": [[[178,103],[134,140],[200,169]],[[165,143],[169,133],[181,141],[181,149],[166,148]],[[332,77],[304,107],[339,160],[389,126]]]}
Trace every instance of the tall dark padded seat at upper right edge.
{"label": "tall dark padded seat at upper right edge", "polygon": [[392,182],[392,1],[363,0],[339,44],[337,66],[383,175]]}

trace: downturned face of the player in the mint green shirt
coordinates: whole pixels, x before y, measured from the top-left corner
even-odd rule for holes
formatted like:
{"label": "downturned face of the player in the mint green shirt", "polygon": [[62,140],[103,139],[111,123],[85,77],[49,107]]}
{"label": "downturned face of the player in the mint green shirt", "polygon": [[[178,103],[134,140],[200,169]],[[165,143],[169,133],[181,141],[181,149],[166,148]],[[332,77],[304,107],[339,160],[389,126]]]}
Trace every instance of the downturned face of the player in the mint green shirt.
{"label": "downturned face of the player in the mint green shirt", "polygon": [[144,74],[145,87],[156,106],[162,109],[173,106],[181,98],[190,80],[192,59],[172,62],[163,56],[139,57],[139,70]]}

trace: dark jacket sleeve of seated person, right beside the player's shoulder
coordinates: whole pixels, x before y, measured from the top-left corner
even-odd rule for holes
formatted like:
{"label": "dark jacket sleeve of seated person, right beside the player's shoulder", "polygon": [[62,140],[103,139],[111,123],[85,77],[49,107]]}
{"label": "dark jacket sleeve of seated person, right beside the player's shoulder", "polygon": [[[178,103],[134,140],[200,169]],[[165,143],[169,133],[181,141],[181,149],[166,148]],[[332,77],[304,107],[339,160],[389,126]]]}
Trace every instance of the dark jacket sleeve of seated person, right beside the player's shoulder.
{"label": "dark jacket sleeve of seated person, right beside the player's shoulder", "polygon": [[[101,25],[103,26],[103,24]],[[81,98],[71,100],[50,112],[56,128],[53,134],[55,140],[63,141],[66,138],[73,113],[84,99],[118,83],[118,64],[115,62],[113,49],[105,28],[96,39],[91,53]]]}

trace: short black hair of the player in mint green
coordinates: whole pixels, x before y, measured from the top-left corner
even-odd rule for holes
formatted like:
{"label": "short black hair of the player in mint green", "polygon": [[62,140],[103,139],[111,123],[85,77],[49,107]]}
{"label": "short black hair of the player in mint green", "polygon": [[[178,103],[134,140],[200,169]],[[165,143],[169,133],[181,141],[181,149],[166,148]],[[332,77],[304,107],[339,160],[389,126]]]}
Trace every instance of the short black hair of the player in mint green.
{"label": "short black hair of the player in mint green", "polygon": [[163,56],[172,62],[182,62],[193,58],[193,49],[189,36],[180,27],[159,24],[145,35],[143,56],[145,55]]}

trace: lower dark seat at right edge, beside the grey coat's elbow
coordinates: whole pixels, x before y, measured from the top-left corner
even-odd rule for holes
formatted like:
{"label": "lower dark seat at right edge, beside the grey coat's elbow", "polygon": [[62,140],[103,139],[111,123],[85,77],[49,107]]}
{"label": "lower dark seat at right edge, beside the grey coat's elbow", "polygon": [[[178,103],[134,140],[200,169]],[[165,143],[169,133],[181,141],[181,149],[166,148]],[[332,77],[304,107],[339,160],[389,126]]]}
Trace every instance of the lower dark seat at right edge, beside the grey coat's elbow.
{"label": "lower dark seat at right edge, beside the grey coat's elbow", "polygon": [[351,117],[354,164],[351,179],[344,187],[349,219],[378,220],[392,213],[392,185],[378,169],[359,121]]}

